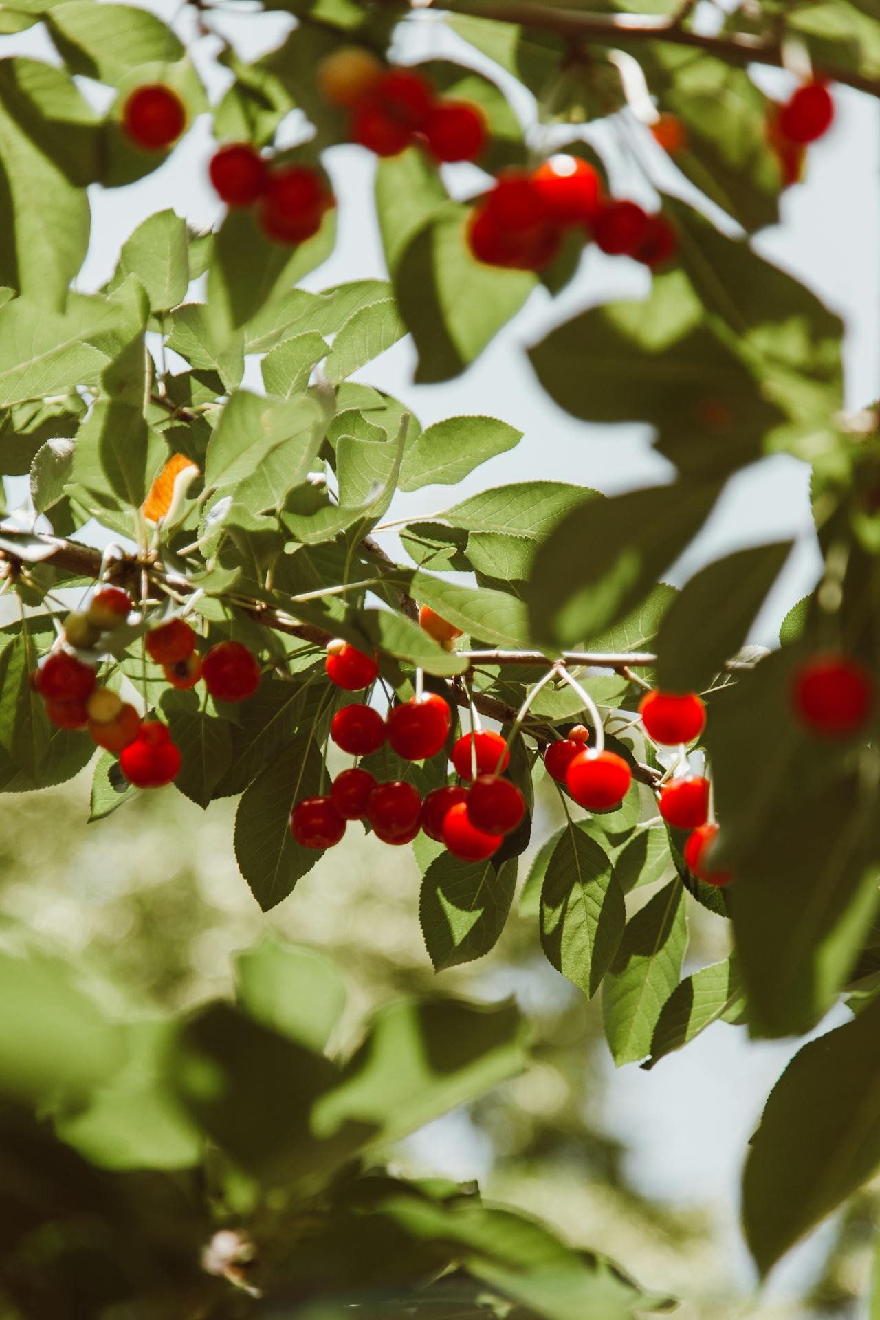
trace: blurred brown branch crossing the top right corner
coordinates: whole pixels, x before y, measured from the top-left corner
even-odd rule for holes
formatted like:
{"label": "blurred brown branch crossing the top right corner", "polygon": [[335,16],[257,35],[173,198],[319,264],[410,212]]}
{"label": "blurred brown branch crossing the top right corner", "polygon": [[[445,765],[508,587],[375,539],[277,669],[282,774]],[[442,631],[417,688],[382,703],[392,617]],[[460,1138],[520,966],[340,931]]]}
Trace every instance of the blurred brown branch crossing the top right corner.
{"label": "blurred brown branch crossing the top right corner", "polygon": [[[462,13],[474,18],[495,18],[520,28],[549,32],[566,41],[596,41],[625,44],[632,40],[665,41],[676,46],[705,50],[728,63],[776,65],[784,67],[782,42],[777,36],[760,37],[748,32],[710,36],[691,32],[672,18],[639,13],[582,13],[577,9],[554,9],[525,0],[429,0],[434,9]],[[833,82],[846,83],[858,91],[880,96],[880,79],[868,78],[855,70],[822,65],[822,75]]]}

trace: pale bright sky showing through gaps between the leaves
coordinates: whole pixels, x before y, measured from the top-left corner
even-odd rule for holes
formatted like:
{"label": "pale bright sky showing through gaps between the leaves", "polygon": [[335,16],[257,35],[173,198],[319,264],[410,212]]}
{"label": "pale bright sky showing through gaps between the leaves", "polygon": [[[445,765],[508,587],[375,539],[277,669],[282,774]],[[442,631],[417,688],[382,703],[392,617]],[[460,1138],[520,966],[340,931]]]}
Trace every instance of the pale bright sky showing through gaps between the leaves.
{"label": "pale bright sky showing through gaps between the leaves", "polygon": [[[144,8],[164,17],[179,12],[175,4],[144,4]],[[420,22],[408,58],[451,49],[443,48],[430,17]],[[193,12],[183,9],[179,30],[187,40],[191,40],[191,18]],[[247,58],[274,45],[290,24],[288,16],[277,13],[215,13],[211,21]],[[216,42],[202,40],[193,49],[201,70],[207,73]],[[18,53],[55,58],[40,29],[0,38],[0,57]],[[227,78],[224,70],[212,71],[208,78],[212,99],[219,96]],[[765,90],[778,88],[780,95],[789,87],[786,75],[773,70],[760,70],[756,79]],[[88,83],[83,87],[96,99],[102,91]],[[782,226],[761,234],[756,247],[810,284],[846,318],[847,407],[859,408],[880,397],[880,116],[876,102],[846,88],[835,90],[835,125],[810,152],[807,182],[789,190],[782,203]],[[528,114],[529,98],[521,96],[519,106]],[[220,207],[206,177],[211,150],[208,125],[202,119],[172,158],[146,180],[115,191],[92,189],[92,242],[79,288],[96,288],[112,273],[121,243],[153,211],[173,206],[197,227],[219,219]],[[369,197],[371,157],[359,148],[340,147],[329,153],[327,168],[339,198],[339,244],[326,265],[305,281],[311,289],[385,275]],[[472,181],[474,173],[470,166],[454,166],[449,177],[459,189]],[[46,203],[51,205],[51,199]],[[429,487],[398,496],[388,516],[430,513],[464,494],[511,480],[555,478],[607,494],[669,480],[672,469],[652,451],[646,428],[588,426],[575,421],[541,392],[524,355],[524,346],[549,326],[610,297],[637,297],[646,290],[646,279],[633,263],[606,257],[591,247],[574,285],[555,304],[542,293],[536,294],[458,380],[414,387],[410,383],[414,354],[406,341],[367,367],[361,378],[409,403],[422,424],[456,413],[489,413],[525,432],[517,449],[480,467],[454,495],[450,487]],[[588,371],[590,364],[584,363],[583,370]],[[259,388],[259,374],[247,379]],[[782,615],[813,587],[817,577],[807,475],[806,467],[786,458],[764,461],[739,474],[672,574],[682,582],[702,564],[731,549],[797,537],[798,550],[759,620],[755,640],[774,640]],[[676,516],[674,507],[669,516]],[[393,539],[389,545],[393,552]],[[501,987],[504,993],[509,989]],[[785,1043],[749,1044],[743,1034],[719,1026],[656,1071],[645,1073],[631,1067],[616,1073],[610,1085],[608,1122],[632,1146],[639,1185],[662,1196],[685,1201],[706,1199],[726,1206],[719,1214],[744,1279],[749,1272],[732,1209],[740,1160],[764,1098],[790,1053],[792,1047]],[[456,1176],[479,1176],[484,1171],[486,1151],[456,1115],[434,1125],[418,1148],[429,1163]],[[809,1249],[806,1254],[794,1253],[778,1271],[774,1290],[785,1292],[794,1282],[800,1283],[814,1259],[815,1253]]]}

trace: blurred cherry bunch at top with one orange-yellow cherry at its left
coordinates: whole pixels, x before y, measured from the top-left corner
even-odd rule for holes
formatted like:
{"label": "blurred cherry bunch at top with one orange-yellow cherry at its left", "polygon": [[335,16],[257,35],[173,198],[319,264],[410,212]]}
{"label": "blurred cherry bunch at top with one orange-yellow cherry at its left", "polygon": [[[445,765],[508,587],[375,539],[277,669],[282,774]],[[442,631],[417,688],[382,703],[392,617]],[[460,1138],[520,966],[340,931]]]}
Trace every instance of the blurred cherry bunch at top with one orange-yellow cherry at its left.
{"label": "blurred cherry bunch at top with one orange-yellow cherry at its left", "polygon": [[425,148],[438,162],[475,161],[488,132],[479,106],[438,96],[414,69],[385,69],[371,51],[343,46],[318,69],[325,100],[351,115],[351,139],[376,156]]}

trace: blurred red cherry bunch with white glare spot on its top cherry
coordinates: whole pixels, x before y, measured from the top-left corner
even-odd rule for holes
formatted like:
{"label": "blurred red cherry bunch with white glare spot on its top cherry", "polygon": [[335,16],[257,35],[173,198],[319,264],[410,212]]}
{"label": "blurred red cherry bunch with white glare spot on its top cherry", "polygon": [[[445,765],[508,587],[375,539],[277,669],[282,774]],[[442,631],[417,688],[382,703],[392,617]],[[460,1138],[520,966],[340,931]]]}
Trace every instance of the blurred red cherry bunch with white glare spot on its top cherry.
{"label": "blurred red cherry bunch with white glare spot on its top cherry", "polygon": [[631,256],[650,269],[678,248],[662,213],[606,197],[596,170],[575,156],[551,156],[533,173],[508,170],[471,213],[471,252],[487,265],[540,271],[559,252],[566,234],[592,239],[610,256]]}

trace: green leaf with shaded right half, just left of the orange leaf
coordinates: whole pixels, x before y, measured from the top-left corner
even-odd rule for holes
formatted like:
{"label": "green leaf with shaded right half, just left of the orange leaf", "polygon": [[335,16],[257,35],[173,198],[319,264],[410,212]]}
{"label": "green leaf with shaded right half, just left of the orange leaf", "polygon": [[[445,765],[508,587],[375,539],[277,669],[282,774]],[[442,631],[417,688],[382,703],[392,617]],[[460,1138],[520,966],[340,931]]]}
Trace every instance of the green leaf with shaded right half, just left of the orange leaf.
{"label": "green leaf with shaded right half, just left of the orange leaf", "polygon": [[99,403],[77,432],[73,482],[102,506],[140,508],[168,450],[127,404]]}

